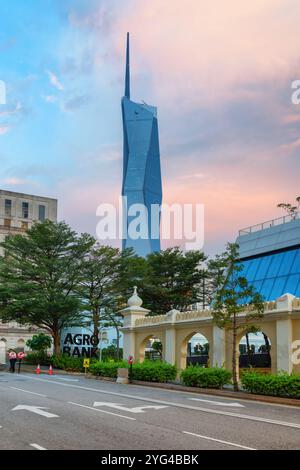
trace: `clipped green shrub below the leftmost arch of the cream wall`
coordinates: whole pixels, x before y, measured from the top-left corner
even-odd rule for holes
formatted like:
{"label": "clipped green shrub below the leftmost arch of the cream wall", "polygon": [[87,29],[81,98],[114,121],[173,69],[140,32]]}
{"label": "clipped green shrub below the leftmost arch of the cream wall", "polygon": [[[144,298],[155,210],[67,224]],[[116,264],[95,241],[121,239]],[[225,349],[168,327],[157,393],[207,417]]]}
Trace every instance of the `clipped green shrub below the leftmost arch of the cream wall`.
{"label": "clipped green shrub below the leftmost arch of the cream wall", "polygon": [[176,374],[176,367],[167,362],[144,361],[140,364],[133,364],[132,366],[132,378],[134,380],[162,383],[174,380]]}

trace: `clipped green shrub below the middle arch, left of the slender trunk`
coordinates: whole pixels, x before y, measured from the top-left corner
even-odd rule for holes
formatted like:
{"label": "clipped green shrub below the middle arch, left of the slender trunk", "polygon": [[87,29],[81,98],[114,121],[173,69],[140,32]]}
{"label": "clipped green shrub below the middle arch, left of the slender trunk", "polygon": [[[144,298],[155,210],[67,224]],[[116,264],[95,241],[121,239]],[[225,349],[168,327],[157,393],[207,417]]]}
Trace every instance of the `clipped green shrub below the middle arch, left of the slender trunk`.
{"label": "clipped green shrub below the middle arch, left of the slender trunk", "polygon": [[231,381],[231,372],[219,367],[189,366],[181,372],[181,381],[189,387],[223,388]]}

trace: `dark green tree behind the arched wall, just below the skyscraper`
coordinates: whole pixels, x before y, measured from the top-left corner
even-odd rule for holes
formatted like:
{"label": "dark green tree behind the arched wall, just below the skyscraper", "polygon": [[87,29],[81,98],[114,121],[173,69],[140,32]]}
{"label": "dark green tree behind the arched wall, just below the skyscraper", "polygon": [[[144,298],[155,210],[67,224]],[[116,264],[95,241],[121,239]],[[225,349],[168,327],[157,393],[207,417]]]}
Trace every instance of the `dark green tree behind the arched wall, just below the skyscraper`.
{"label": "dark green tree behind the arched wall, just below the skyscraper", "polygon": [[[202,263],[200,251],[184,253],[180,248],[151,253],[140,262],[141,277],[136,280],[143,306],[152,315],[165,314],[171,309],[184,310],[202,300]],[[137,262],[137,261],[136,261]]]}

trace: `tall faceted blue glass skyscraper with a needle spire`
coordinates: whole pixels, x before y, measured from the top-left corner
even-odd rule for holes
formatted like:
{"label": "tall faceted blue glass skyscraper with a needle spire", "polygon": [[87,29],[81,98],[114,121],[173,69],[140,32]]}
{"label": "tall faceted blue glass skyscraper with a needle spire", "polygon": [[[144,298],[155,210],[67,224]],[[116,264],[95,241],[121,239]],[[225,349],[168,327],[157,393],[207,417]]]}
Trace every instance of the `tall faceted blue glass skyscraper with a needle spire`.
{"label": "tall faceted blue glass skyscraper with a needle spire", "polygon": [[[125,236],[123,249],[133,248],[136,254],[146,256],[160,250],[160,216],[151,207],[159,208],[162,202],[162,182],[158,139],[157,109],[146,103],[130,99],[129,33],[127,33],[125,94],[122,98],[123,119],[123,184],[122,196],[126,198],[123,224]],[[128,215],[133,204],[147,208],[143,227],[138,227],[141,238],[132,236],[128,228],[136,219]],[[136,206],[135,206],[136,207]],[[138,215],[138,213],[137,213]],[[144,214],[145,215],[145,214]]]}

